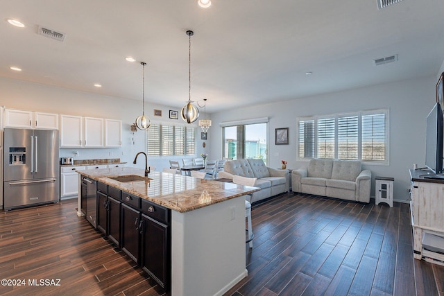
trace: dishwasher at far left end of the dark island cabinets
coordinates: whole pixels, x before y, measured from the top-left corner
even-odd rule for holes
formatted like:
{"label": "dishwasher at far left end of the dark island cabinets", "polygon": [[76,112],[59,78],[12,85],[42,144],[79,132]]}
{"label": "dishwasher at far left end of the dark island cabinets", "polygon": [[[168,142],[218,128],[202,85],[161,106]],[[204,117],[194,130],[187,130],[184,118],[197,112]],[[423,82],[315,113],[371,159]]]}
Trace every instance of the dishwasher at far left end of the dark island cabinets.
{"label": "dishwasher at far left end of the dark island cabinets", "polygon": [[86,220],[91,223],[94,228],[97,227],[97,202],[96,202],[96,181],[87,177],[82,177],[81,184],[82,193],[80,195],[81,211],[85,214]]}

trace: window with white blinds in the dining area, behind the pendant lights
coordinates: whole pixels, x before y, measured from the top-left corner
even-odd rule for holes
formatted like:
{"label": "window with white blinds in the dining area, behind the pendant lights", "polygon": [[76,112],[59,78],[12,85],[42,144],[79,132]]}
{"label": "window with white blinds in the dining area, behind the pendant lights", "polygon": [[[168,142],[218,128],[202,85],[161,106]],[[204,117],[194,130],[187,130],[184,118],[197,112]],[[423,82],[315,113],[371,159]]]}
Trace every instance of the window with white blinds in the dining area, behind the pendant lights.
{"label": "window with white blinds in the dining area, behind the pendant lights", "polygon": [[146,130],[146,150],[150,156],[194,155],[196,128],[151,124]]}

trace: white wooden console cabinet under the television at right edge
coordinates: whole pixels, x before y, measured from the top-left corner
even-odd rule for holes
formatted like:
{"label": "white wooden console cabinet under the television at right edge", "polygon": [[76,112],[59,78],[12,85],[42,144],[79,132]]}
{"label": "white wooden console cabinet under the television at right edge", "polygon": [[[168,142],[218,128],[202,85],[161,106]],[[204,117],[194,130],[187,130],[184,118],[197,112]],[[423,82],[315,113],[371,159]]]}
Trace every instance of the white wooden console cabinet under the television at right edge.
{"label": "white wooden console cabinet under the television at right edge", "polygon": [[[422,177],[425,174],[410,171],[413,256],[444,265],[444,180]],[[427,245],[429,241],[433,245]]]}

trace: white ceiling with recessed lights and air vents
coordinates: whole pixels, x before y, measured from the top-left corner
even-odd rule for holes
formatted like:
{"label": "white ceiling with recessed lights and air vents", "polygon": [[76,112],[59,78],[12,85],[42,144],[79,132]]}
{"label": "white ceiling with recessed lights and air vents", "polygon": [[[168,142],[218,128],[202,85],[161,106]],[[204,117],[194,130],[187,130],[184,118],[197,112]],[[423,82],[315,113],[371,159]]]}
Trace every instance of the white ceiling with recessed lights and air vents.
{"label": "white ceiling with recessed lights and air vents", "polygon": [[[191,100],[207,98],[208,112],[436,75],[444,1],[376,1],[0,0],[0,76],[142,100],[144,61],[147,104],[180,108],[189,29]],[[39,25],[65,41],[37,35]]]}

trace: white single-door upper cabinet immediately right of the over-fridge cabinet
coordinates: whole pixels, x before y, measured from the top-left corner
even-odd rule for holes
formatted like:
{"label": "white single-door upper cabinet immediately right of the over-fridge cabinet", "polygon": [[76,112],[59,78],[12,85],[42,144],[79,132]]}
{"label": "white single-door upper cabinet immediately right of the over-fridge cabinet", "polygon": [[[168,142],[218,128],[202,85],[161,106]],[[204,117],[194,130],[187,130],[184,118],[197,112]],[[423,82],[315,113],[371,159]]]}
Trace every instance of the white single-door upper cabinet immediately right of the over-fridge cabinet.
{"label": "white single-door upper cabinet immediately right of the over-fridge cabinet", "polygon": [[83,117],[60,115],[60,147],[83,147]]}

